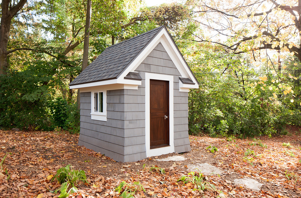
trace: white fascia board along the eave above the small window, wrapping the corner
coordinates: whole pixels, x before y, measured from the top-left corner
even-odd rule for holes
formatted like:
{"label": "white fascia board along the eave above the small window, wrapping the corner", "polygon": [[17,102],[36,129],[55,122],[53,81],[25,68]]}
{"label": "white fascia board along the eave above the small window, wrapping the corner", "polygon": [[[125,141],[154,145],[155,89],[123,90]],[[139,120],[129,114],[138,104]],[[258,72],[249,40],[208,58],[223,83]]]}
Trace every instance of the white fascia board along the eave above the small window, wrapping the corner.
{"label": "white fascia board along the eave above the small window, wrapping the corner", "polygon": [[141,80],[128,80],[128,79],[112,79],[112,80],[104,80],[94,83],[85,83],[78,85],[71,85],[69,89],[79,89],[84,87],[95,87],[101,85],[112,85],[112,84],[128,84],[128,85],[141,85]]}

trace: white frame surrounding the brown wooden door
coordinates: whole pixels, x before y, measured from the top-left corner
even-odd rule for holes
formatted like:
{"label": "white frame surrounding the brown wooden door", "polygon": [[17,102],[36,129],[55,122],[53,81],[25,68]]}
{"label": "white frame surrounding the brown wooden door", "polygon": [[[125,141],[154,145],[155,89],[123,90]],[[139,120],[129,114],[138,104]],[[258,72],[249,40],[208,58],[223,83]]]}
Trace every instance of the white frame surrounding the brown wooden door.
{"label": "white frame surrounding the brown wooden door", "polygon": [[[169,146],[150,149],[150,79],[169,81]],[[171,75],[145,73],[145,147],[146,156],[158,156],[175,152],[174,146],[174,77]]]}

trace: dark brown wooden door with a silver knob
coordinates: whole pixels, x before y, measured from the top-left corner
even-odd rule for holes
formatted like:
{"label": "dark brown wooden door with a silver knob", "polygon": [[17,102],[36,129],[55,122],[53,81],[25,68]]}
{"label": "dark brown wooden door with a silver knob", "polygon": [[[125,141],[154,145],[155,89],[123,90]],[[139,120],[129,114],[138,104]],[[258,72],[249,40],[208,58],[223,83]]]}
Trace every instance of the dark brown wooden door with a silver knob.
{"label": "dark brown wooden door with a silver knob", "polygon": [[169,146],[168,81],[150,80],[150,147]]}

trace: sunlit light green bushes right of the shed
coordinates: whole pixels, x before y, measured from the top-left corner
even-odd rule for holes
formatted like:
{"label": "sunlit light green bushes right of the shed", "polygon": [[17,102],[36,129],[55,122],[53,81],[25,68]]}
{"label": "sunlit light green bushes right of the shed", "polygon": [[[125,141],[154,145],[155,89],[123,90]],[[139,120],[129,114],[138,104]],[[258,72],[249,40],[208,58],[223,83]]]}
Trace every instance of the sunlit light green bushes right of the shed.
{"label": "sunlit light green bushes right of the shed", "polygon": [[[276,103],[274,90],[268,88],[273,85],[271,81],[265,82],[262,89],[255,81],[253,87],[243,85],[242,79],[230,70],[229,73],[211,67],[192,67],[192,70],[200,87],[189,92],[189,134],[271,136],[282,134],[285,125],[301,125],[299,105],[292,104],[281,93]],[[244,75],[249,75],[249,84],[255,79],[250,71],[244,71]]]}

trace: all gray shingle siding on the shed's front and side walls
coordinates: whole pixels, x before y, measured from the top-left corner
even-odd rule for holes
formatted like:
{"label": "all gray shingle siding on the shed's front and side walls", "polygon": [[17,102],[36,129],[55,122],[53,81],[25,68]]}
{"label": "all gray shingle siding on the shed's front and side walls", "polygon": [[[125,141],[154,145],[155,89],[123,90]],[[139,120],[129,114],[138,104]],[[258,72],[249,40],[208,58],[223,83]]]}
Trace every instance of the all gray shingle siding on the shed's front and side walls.
{"label": "all gray shingle siding on the shed's front and side walls", "polygon": [[107,91],[107,121],[91,120],[91,92],[81,93],[79,145],[101,152],[116,161],[146,158],[145,72],[174,75],[175,152],[190,151],[188,138],[188,93],[179,92],[180,73],[159,43],[137,67],[141,80],[138,90]]}

